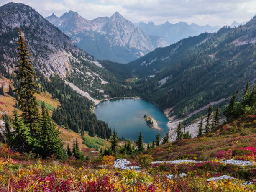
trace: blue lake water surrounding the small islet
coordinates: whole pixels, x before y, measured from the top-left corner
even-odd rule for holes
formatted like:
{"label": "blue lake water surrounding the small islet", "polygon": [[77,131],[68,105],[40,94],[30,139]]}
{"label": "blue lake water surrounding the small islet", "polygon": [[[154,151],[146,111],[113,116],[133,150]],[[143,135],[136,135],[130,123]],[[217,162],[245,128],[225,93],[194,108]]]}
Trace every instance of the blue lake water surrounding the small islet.
{"label": "blue lake water surrounding the small islet", "polygon": [[[98,119],[108,122],[112,130],[117,131],[118,137],[136,140],[142,131],[145,143],[156,141],[160,131],[161,138],[168,131],[168,118],[151,102],[142,99],[112,99],[100,102],[94,110]],[[156,120],[161,130],[150,128],[143,116],[149,115]]]}

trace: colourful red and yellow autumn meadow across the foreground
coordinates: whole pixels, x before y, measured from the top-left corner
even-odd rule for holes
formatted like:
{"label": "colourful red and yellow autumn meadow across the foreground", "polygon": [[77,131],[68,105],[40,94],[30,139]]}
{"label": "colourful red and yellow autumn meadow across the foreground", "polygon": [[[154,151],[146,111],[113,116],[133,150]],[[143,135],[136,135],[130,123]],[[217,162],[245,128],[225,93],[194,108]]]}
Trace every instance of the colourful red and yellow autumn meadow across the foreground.
{"label": "colourful red and yellow autumn meadow across the foreground", "polygon": [[[238,166],[216,161],[182,164],[152,164],[141,169],[113,168],[114,157],[103,156],[101,161],[82,162],[69,158],[65,162],[53,158],[31,159],[0,148],[0,191],[255,191],[255,184],[244,185],[256,175],[256,165]],[[148,155],[138,156],[133,164],[147,165]],[[150,159],[150,158],[149,158]],[[150,162],[151,163],[151,162]],[[128,165],[129,166],[129,165]],[[185,177],[179,174],[186,172]],[[177,177],[169,179],[167,174]],[[210,177],[228,174],[234,178],[208,181]]]}

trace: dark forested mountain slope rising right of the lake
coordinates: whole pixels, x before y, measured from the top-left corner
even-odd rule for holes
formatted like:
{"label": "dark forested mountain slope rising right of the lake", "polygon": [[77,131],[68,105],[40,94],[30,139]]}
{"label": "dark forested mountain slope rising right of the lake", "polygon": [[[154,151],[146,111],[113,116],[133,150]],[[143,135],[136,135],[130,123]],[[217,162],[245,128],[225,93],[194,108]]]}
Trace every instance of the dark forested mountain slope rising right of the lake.
{"label": "dark forested mountain slope rising right of the lake", "polygon": [[189,37],[128,63],[136,95],[187,116],[256,81],[256,17],[243,26]]}

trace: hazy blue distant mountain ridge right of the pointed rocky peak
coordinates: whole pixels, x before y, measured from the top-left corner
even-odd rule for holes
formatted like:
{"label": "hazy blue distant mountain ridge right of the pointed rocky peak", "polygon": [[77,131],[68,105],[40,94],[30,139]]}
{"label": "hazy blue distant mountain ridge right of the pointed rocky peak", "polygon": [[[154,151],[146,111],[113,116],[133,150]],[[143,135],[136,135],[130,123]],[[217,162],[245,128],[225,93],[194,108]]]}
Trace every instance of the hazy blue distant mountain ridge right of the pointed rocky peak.
{"label": "hazy blue distant mountain ridge right of the pointed rocky peak", "polygon": [[200,26],[195,23],[189,25],[186,22],[171,24],[168,21],[160,25],[155,25],[152,21],[148,23],[135,23],[135,25],[148,35],[164,38],[168,44],[173,44],[183,38],[197,36],[204,32],[213,33],[220,29],[220,26]]}

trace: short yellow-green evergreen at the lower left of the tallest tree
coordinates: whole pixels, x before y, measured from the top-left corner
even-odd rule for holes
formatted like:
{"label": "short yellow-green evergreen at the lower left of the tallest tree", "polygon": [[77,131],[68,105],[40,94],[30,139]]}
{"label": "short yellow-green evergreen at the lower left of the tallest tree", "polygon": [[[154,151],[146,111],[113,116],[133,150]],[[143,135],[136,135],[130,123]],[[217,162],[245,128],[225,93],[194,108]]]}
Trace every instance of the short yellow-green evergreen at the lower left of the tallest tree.
{"label": "short yellow-green evergreen at the lower left of the tallest tree", "polygon": [[36,138],[32,138],[27,125],[23,123],[23,119],[19,117],[17,110],[13,111],[13,143],[12,149],[19,152],[30,152],[33,148],[38,148]]}

